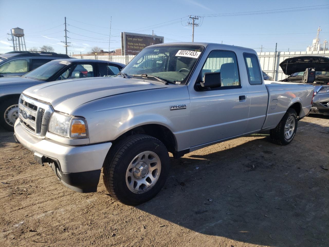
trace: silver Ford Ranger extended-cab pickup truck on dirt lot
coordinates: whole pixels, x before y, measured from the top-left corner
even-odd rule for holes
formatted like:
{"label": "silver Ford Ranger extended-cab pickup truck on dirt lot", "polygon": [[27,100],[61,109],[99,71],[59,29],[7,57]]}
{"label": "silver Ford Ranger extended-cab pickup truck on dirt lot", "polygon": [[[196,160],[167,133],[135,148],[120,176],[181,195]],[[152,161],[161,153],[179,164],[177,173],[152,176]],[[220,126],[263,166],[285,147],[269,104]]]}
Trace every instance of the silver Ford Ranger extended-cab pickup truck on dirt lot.
{"label": "silver Ford Ranger extended-cab pickup truck on dirt lot", "polygon": [[254,50],[214,43],[144,48],[116,77],[48,82],[19,99],[15,139],[67,187],[154,197],[175,158],[264,130],[289,144],[314,87],[264,82]]}

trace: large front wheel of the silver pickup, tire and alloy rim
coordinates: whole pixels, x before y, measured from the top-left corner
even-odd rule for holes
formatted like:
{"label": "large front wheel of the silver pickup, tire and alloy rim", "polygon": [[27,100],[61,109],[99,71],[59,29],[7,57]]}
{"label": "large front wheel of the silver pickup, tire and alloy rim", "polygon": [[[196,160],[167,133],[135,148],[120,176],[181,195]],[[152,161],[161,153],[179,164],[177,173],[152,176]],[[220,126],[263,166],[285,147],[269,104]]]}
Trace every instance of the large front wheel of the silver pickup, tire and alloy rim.
{"label": "large front wheel of the silver pickup, tire and alloy rim", "polygon": [[139,205],[159,193],[169,172],[164,144],[148,135],[132,135],[112,147],[104,161],[103,181],[112,197]]}

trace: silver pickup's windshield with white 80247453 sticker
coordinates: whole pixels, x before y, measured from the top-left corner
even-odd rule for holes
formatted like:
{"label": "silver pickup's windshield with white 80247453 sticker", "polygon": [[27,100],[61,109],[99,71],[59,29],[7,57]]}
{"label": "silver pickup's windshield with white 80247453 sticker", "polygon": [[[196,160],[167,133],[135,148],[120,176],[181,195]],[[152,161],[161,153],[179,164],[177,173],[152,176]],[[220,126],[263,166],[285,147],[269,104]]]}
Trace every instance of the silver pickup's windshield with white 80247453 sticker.
{"label": "silver pickup's windshield with white 80247453 sticker", "polygon": [[202,51],[203,47],[199,45],[147,47],[122,69],[122,74],[132,78],[144,75],[142,77],[154,81],[158,77],[165,82],[185,84]]}

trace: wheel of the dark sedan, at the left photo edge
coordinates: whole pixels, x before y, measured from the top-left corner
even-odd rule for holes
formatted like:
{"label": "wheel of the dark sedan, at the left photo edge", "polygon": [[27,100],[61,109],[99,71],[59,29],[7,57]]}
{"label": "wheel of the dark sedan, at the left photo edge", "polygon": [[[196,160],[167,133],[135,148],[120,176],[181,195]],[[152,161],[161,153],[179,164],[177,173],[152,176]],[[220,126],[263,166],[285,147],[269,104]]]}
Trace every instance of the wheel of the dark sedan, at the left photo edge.
{"label": "wheel of the dark sedan, at the left photo edge", "polygon": [[9,131],[14,131],[18,118],[18,98],[11,98],[0,103],[0,125]]}

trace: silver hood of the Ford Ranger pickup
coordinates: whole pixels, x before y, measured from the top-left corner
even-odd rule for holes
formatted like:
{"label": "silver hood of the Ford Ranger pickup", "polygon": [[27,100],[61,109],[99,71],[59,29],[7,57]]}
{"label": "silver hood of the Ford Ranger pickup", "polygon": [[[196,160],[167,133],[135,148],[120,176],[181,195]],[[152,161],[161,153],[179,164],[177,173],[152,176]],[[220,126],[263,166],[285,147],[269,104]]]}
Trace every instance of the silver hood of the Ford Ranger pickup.
{"label": "silver hood of the Ford Ranger pickup", "polygon": [[93,77],[43,83],[26,89],[23,94],[50,103],[57,111],[70,114],[89,101],[141,90],[166,88],[161,82],[121,77]]}

